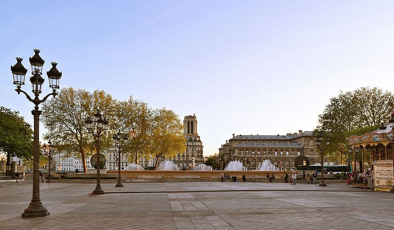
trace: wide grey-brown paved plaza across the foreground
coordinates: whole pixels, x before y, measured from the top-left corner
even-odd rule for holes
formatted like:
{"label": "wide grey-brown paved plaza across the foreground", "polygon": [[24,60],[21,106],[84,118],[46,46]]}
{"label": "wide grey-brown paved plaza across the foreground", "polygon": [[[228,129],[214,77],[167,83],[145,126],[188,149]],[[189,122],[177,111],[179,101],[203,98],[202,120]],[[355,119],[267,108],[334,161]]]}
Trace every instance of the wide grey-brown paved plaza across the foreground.
{"label": "wide grey-brown paved plaza across the foreground", "polygon": [[317,185],[253,182],[42,183],[50,216],[22,219],[32,184],[0,188],[1,230],[389,230],[394,194]]}

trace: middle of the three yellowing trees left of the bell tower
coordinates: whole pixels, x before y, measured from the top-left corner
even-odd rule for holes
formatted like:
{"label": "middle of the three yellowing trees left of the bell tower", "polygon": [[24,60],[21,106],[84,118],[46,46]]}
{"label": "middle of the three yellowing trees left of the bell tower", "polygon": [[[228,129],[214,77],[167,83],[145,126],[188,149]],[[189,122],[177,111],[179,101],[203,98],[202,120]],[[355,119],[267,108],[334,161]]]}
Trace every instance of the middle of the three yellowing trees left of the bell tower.
{"label": "middle of the three yellowing trees left of the bell tower", "polygon": [[131,162],[135,160],[137,165],[141,156],[150,159],[153,112],[148,104],[130,97],[127,101],[117,103],[115,116],[118,128],[123,132],[133,134],[133,138],[129,139],[129,144],[122,150],[124,153],[135,153],[128,155],[128,159]]}

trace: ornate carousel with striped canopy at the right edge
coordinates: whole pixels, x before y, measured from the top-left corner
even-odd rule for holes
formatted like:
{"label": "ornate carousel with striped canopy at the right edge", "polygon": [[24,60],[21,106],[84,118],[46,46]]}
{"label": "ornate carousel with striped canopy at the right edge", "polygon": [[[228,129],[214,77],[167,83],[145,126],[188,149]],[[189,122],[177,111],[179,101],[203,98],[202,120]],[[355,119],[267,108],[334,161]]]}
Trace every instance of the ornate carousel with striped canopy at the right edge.
{"label": "ornate carousel with striped canopy at the right edge", "polygon": [[[389,123],[361,136],[351,136],[349,153],[353,154],[353,186],[370,187],[379,192],[394,192],[394,111]],[[361,174],[360,174],[361,173]]]}

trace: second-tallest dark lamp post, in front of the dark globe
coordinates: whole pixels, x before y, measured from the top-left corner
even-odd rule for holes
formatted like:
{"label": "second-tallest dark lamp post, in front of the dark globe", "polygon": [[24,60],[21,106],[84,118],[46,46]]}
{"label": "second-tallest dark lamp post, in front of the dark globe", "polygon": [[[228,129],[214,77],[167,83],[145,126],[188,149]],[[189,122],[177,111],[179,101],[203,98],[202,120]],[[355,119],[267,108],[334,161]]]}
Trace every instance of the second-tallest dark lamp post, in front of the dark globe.
{"label": "second-tallest dark lamp post, in front of the dark globe", "polygon": [[99,195],[104,194],[104,191],[101,189],[100,186],[100,168],[101,168],[101,161],[100,161],[100,136],[104,134],[108,129],[108,121],[100,114],[100,111],[97,110],[95,114],[95,120],[93,121],[92,118],[89,116],[88,119],[85,121],[86,128],[88,132],[92,134],[93,139],[95,140],[96,145],[96,168],[97,168],[97,184],[96,188],[92,194]]}

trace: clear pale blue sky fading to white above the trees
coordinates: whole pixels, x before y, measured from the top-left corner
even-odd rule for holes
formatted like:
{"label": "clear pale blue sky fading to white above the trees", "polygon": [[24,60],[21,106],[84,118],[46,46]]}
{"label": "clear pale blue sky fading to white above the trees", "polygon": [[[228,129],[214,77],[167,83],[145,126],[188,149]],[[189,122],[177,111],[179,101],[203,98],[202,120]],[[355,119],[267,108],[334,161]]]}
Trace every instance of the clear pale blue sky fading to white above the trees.
{"label": "clear pale blue sky fading to white above the trees", "polygon": [[391,0],[4,0],[0,106],[33,124],[10,66],[30,68],[37,48],[44,72],[59,63],[61,87],[196,114],[205,156],[233,133],[312,131],[340,91],[393,92],[393,11]]}

